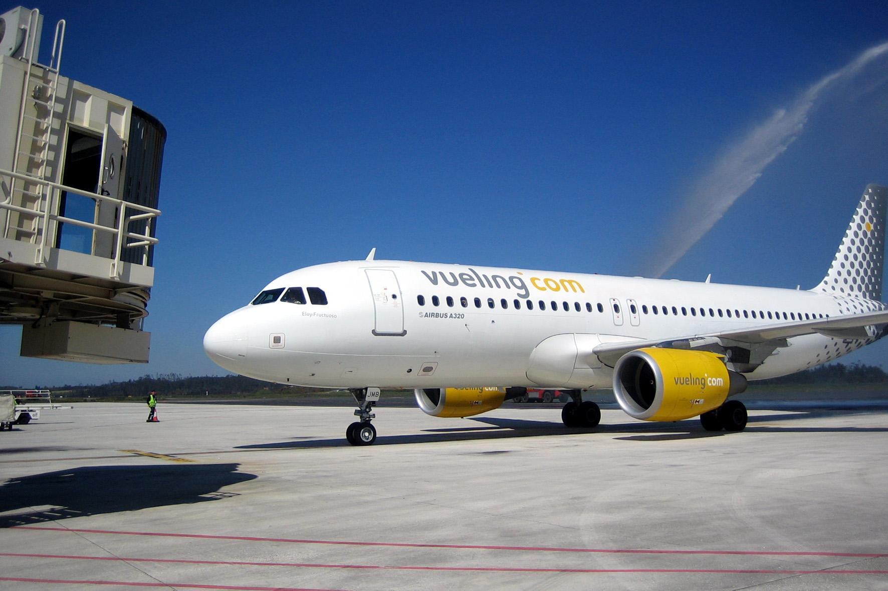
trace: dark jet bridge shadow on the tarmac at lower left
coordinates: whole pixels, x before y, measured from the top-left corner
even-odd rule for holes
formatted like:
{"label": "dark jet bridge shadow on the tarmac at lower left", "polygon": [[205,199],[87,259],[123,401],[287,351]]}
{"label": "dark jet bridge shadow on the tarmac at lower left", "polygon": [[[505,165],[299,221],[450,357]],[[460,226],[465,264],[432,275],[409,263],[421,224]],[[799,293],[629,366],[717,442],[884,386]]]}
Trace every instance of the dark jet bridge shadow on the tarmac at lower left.
{"label": "dark jet bridge shadow on the tarmac at lower left", "polygon": [[256,478],[239,465],[84,466],[11,478],[0,484],[0,513],[31,510],[0,515],[0,528],[233,496],[220,491]]}

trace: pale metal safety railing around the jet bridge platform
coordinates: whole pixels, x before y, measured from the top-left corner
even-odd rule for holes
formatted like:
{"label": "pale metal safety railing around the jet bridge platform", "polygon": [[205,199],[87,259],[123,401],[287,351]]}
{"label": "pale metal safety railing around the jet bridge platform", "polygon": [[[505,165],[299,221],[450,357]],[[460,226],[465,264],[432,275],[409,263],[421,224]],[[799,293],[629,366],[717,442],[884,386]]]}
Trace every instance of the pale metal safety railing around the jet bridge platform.
{"label": "pale metal safety railing around the jet bridge platform", "polygon": [[[156,217],[161,215],[160,209],[149,208],[146,205],[139,205],[138,203],[131,203],[130,201],[115,199],[114,197],[109,197],[107,195],[102,195],[99,193],[90,193],[88,191],[83,191],[82,189],[76,189],[72,186],[61,185],[49,180],[35,178],[27,174],[13,172],[12,170],[0,169],[0,177],[3,177],[4,179],[17,179],[20,181],[26,181],[29,184],[44,186],[45,191],[43,192],[43,195],[40,196],[39,201],[36,201],[36,208],[34,209],[14,205],[12,203],[12,193],[7,194],[4,200],[0,201],[0,209],[5,209],[7,211],[7,220],[9,219],[9,213],[13,211],[24,214],[26,216],[38,217],[38,225],[35,230],[28,232],[31,234],[31,236],[27,240],[28,242],[37,244],[34,264],[41,266],[44,266],[46,264],[47,242],[48,240],[50,240],[51,237],[54,240],[58,228],[58,223],[60,222],[62,224],[77,225],[83,228],[89,228],[95,232],[106,232],[114,237],[115,248],[113,252],[110,253],[110,257],[105,256],[106,258],[111,259],[110,267],[108,269],[108,277],[113,279],[120,278],[122,269],[121,255],[125,248],[142,248],[141,264],[147,266],[149,260],[148,249],[158,243],[158,240],[154,236],[152,236],[151,233],[153,225],[152,222]],[[10,185],[12,185],[12,183],[10,183]],[[114,204],[118,208],[118,211],[115,215],[114,225],[101,225],[93,222],[87,222],[81,219],[76,219],[74,217],[65,217],[53,213],[58,209],[59,199],[62,192],[82,195],[97,202],[104,201]],[[141,221],[145,222],[144,233],[130,232],[129,230],[127,230],[132,222]],[[56,224],[53,225],[52,222],[55,222]],[[14,235],[16,232],[20,232],[20,230],[20,228],[13,228],[7,223],[4,238],[21,240]],[[13,235],[10,235],[11,233]],[[93,243],[95,243],[95,240],[93,240]],[[51,246],[54,246],[54,244]],[[90,254],[92,256],[104,256],[96,252],[91,252]]]}

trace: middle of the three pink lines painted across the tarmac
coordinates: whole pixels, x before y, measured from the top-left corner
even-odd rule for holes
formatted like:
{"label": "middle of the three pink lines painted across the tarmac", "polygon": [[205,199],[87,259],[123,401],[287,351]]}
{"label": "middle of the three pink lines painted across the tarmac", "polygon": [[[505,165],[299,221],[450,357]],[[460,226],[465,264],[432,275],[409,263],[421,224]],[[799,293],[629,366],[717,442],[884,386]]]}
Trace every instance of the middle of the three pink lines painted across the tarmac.
{"label": "middle of the three pink lines painted across the tarmac", "polygon": [[[0,552],[14,558],[56,558],[63,560],[99,560],[127,563],[221,564],[225,566],[284,566],[290,568],[359,569],[368,571],[463,571],[463,572],[575,572],[575,573],[710,573],[710,574],[872,574],[888,575],[888,571],[781,571],[775,569],[555,569],[508,566],[410,566],[388,564],[325,564],[325,563],[259,563],[226,560],[186,560],[184,558],[125,558],[121,556],[71,556],[57,554],[20,554]],[[227,588],[227,587],[225,587]],[[236,588],[236,587],[234,587]],[[252,588],[252,587],[250,587]]]}

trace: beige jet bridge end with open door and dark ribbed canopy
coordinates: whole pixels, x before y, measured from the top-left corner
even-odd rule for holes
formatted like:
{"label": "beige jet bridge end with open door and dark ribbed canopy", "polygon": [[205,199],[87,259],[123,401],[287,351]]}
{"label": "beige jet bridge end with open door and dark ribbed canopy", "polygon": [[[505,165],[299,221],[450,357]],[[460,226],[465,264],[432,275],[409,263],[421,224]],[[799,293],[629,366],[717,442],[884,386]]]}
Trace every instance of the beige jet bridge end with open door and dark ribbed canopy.
{"label": "beige jet bridge end with open door and dark ribbed canopy", "polygon": [[0,324],[25,357],[146,363],[166,130],[60,75],[64,20],[40,61],[42,27],[0,15]]}

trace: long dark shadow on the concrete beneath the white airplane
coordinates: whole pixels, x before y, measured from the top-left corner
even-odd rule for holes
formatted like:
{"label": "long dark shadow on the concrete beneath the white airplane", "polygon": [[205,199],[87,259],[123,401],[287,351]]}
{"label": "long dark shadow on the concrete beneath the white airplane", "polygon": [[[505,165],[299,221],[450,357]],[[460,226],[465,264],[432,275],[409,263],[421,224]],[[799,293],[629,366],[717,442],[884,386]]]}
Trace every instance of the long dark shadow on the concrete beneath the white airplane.
{"label": "long dark shadow on the concrete beneath the white airplane", "polygon": [[[797,410],[791,414],[755,414],[749,417],[746,431],[754,433],[780,432],[780,433],[841,433],[841,432],[886,432],[888,427],[807,427],[793,426],[791,424],[774,425],[775,422],[791,423],[799,419],[813,417],[830,417],[841,414],[857,413],[843,409],[841,411],[803,411]],[[400,445],[418,443],[436,443],[443,441],[469,441],[477,439],[504,439],[511,437],[539,437],[539,436],[570,436],[579,433],[602,433],[616,435],[620,433],[637,433],[628,437],[616,437],[626,441],[663,441],[670,439],[694,439],[700,437],[727,437],[740,435],[741,433],[728,433],[726,431],[707,431],[702,429],[698,419],[679,421],[672,423],[663,422],[624,422],[599,425],[594,429],[566,428],[560,422],[532,421],[524,419],[502,419],[496,417],[472,417],[467,421],[486,423],[487,427],[457,427],[448,429],[424,429],[421,433],[409,435],[379,435],[374,445]],[[767,422],[767,425],[757,425]],[[651,432],[654,431],[654,432]],[[663,432],[668,431],[668,432]],[[345,437],[332,437],[329,439],[305,439],[305,437],[293,437],[291,441],[238,445],[234,449],[272,450],[272,449],[306,449],[317,447],[350,446]]]}

